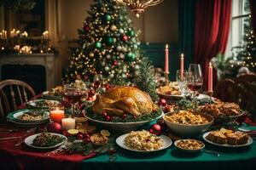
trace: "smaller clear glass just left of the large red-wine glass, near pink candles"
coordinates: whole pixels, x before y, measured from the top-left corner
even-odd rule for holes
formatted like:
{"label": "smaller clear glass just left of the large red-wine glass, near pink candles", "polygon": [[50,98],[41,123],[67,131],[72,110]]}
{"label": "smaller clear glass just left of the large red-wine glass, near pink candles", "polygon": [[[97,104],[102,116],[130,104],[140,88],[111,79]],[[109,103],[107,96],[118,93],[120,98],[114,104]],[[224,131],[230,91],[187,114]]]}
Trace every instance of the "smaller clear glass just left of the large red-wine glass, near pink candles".
{"label": "smaller clear glass just left of the large red-wine glass, near pink candles", "polygon": [[176,82],[181,90],[181,93],[183,95],[186,95],[186,88],[187,88],[187,78],[188,78],[188,72],[187,71],[181,71],[177,70],[176,72]]}

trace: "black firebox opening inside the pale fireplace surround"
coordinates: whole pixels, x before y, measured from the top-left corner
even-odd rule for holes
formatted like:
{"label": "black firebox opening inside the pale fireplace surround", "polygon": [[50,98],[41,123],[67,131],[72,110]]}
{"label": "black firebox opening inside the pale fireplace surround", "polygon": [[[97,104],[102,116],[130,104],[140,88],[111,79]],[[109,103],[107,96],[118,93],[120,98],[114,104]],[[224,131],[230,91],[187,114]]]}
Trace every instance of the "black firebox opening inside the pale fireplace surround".
{"label": "black firebox opening inside the pale fireplace surround", "polygon": [[16,79],[28,83],[36,92],[46,90],[45,68],[43,65],[3,65],[2,80]]}

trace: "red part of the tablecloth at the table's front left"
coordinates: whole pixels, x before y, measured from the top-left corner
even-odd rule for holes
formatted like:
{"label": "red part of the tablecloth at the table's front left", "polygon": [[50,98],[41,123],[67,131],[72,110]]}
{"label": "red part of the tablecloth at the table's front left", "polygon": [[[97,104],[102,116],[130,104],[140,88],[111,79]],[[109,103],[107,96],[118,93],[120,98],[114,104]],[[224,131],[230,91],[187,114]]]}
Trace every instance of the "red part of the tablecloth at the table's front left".
{"label": "red part of the tablecloth at the table's front left", "polygon": [[[9,125],[1,125],[0,128],[9,127]],[[29,135],[25,131],[6,133],[1,132],[0,138],[10,136]],[[18,140],[0,141],[0,167],[1,169],[78,169],[79,162],[84,159],[95,156],[81,156],[77,154],[66,155],[56,154],[46,156],[49,150],[35,150],[26,144],[15,146]]]}

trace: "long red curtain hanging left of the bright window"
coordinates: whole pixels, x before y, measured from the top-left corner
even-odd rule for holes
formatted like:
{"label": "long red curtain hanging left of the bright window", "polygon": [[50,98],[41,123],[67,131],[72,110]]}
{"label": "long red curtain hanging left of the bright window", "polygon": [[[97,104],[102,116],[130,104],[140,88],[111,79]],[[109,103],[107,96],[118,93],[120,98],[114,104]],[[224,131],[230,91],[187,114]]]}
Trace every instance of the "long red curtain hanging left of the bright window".
{"label": "long red curtain hanging left of the bright window", "polygon": [[[228,42],[232,0],[196,0],[195,63],[201,64],[207,90],[208,65],[212,57],[224,54]],[[214,72],[213,82],[217,76]]]}

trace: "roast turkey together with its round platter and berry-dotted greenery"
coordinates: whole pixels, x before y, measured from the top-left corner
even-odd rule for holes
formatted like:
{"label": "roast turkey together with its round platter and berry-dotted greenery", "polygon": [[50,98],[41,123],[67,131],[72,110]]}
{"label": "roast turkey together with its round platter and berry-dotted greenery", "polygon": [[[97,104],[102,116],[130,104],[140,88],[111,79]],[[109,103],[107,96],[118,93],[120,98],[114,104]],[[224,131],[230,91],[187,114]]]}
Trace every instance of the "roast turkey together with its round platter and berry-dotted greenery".
{"label": "roast turkey together with its round platter and berry-dotted greenery", "polygon": [[92,122],[125,131],[160,118],[162,111],[147,93],[138,88],[119,86],[98,97],[84,116]]}

